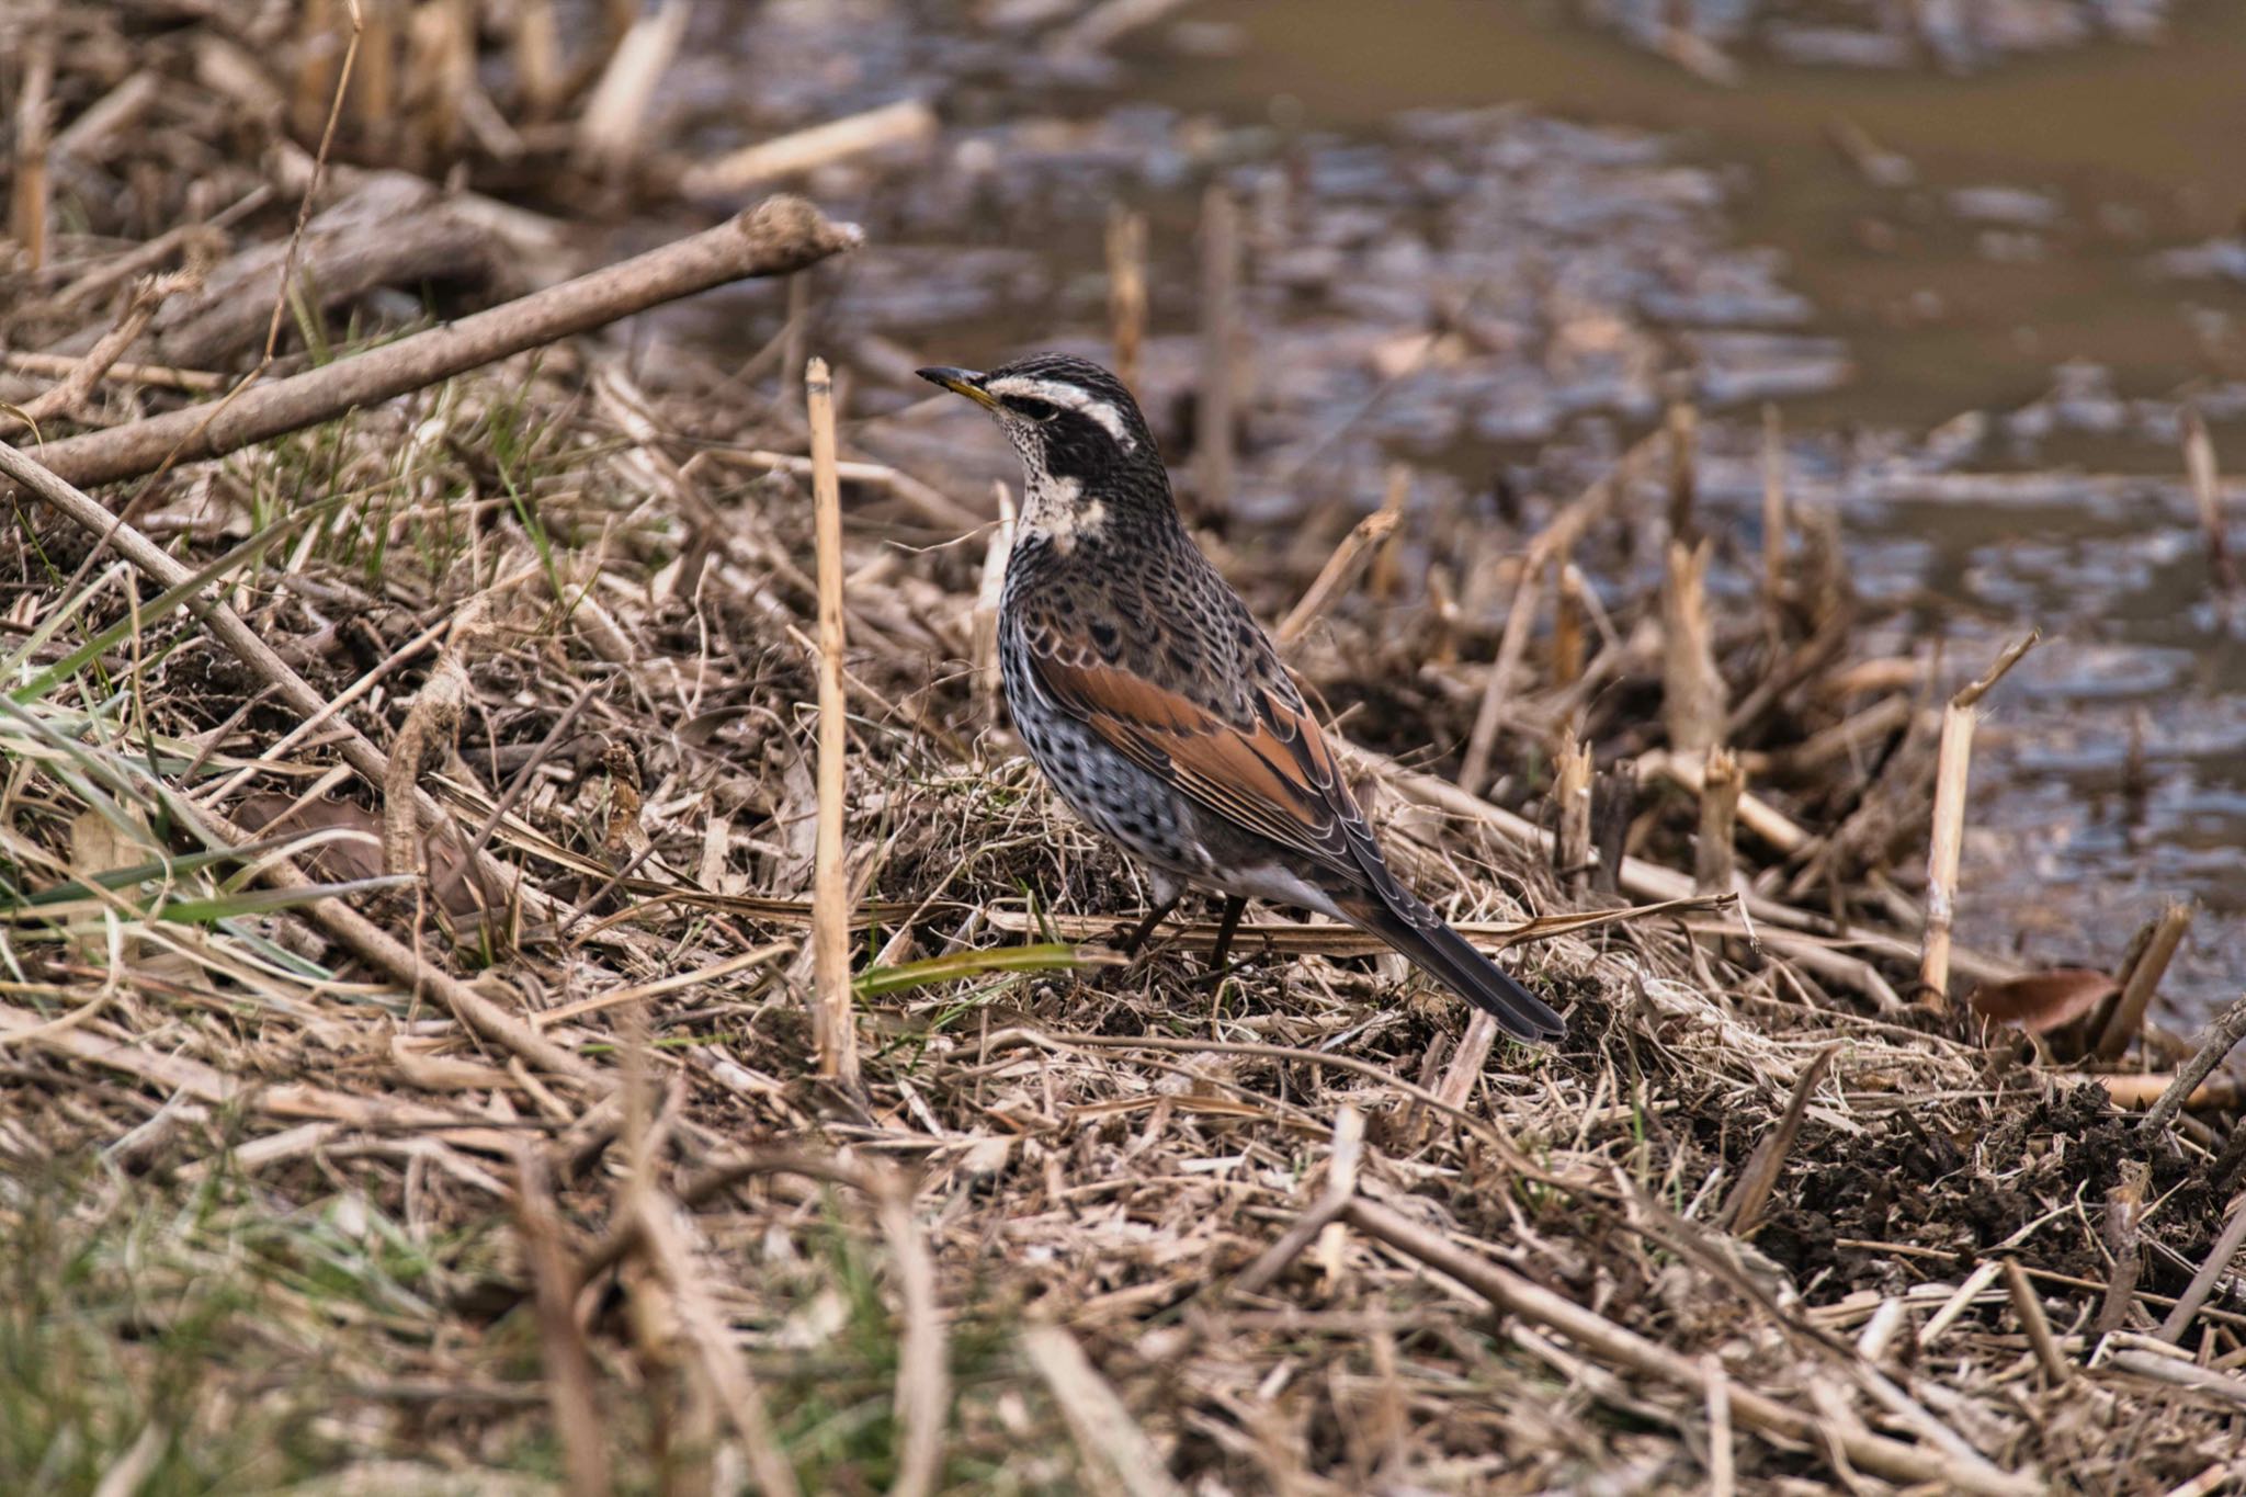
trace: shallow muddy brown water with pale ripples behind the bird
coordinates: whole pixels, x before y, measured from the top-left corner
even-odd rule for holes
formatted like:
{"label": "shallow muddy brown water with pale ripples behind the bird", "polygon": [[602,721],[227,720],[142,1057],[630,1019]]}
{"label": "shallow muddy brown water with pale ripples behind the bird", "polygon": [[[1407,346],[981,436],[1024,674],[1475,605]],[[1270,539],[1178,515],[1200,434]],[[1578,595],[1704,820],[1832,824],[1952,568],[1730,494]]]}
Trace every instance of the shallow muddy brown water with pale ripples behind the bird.
{"label": "shallow muddy brown water with pale ripples behind the bird", "polygon": [[[847,63],[820,52],[838,11]],[[1750,525],[1756,404],[1777,399],[1795,500],[1837,509],[1857,586],[1900,608],[1866,646],[1938,637],[1963,680],[2028,624],[2046,635],[1981,736],[1961,934],[2109,965],[2188,896],[2208,913],[2167,1017],[2246,981],[2246,646],[2210,597],[2176,404],[2194,397],[2246,467],[2246,245],[2228,238],[2246,7],[2183,4],[2163,45],[1974,76],[1745,47],[1736,90],[1536,0],[1213,0],[1105,70],[1056,63],[1033,27],[955,36],[903,7],[757,16],[710,38],[683,99],[755,65],[804,83],[759,94],[764,128],[903,92],[946,117],[910,166],[813,182],[874,231],[822,287],[820,337],[844,357],[1103,355],[1101,231],[1127,202],[1152,251],[1141,393],[1175,438],[1193,229],[1220,175],[1249,245],[1242,525],[1368,507],[1395,458],[1453,509],[1491,471],[1570,492],[1678,370],[1709,411],[1705,503]],[[739,130],[721,112],[707,135]],[[1909,182],[1893,162],[1869,180],[1837,135]],[[741,307],[719,341],[746,350],[775,305]],[[1422,348],[1428,328],[1446,337]],[[858,435],[1011,476],[970,413],[914,399],[865,391]]]}

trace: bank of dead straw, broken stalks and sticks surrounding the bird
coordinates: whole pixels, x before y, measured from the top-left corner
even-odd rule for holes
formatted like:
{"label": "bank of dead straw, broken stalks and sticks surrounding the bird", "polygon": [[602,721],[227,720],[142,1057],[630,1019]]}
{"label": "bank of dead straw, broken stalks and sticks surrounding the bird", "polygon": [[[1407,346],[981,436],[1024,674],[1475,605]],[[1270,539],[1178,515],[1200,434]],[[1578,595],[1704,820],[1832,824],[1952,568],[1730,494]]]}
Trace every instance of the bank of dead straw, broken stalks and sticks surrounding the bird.
{"label": "bank of dead straw, broken stalks and sticks surrounding the bird", "polygon": [[[362,4],[393,56],[476,36]],[[647,76],[669,9],[570,83],[512,7],[523,108]],[[474,319],[395,337],[384,287],[521,290],[492,251],[521,222],[335,173],[292,240],[310,157],[245,164],[218,121],[263,79],[274,130],[317,123],[317,49],[287,76],[216,25],[99,27],[34,22],[61,108],[16,137],[16,202],[97,108],[189,126],[99,139],[200,171],[126,173],[162,231],[18,233],[7,269],[11,339],[54,359],[9,397],[56,395],[0,451],[9,1490],[2237,1479],[2246,1131],[2143,1023],[2188,920],[2113,976],[1923,920],[1932,808],[1963,803],[1941,687],[1981,662],[1860,658],[1783,465],[1754,554],[1680,413],[1464,601],[1410,559],[1489,521],[1410,507],[1410,474],[1375,521],[1226,536],[1399,871],[1570,1035],[1496,1046],[1276,913],[1211,988],[1208,925],[1107,952],[1141,891],[997,720],[999,503],[838,460],[793,379],[559,339],[656,296],[416,364]],[[586,171],[629,150],[624,88]],[[402,110],[389,159],[467,150],[487,103],[469,135]],[[391,249],[442,220],[478,247],[442,265],[492,276],[344,274],[366,229],[330,215],[373,184]],[[847,247],[786,213],[797,258],[710,278]],[[1134,339],[1143,294],[1114,305]],[[182,368],[162,339],[198,328]],[[384,361],[427,377],[346,384]],[[292,388],[337,404],[225,426]],[[74,469],[90,444],[139,456]],[[1943,972],[1974,1001],[1911,988]]]}

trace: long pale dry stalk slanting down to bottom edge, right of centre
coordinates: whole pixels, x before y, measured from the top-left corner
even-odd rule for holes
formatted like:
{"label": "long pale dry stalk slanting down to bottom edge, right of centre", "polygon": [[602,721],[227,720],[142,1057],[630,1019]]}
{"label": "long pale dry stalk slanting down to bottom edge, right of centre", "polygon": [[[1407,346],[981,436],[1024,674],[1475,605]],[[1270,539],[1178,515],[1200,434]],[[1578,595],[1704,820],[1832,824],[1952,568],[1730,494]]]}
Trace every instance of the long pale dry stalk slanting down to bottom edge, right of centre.
{"label": "long pale dry stalk slanting down to bottom edge, right of centre", "polygon": [[[1496,1308],[1521,1315],[1527,1322],[1559,1331],[1577,1347],[1604,1362],[1626,1367],[1649,1378],[1660,1378],[1671,1387],[1707,1398],[1707,1376],[1698,1362],[1678,1356],[1669,1347],[1651,1342],[1635,1331],[1617,1326],[1604,1315],[1554,1295],[1541,1284],[1498,1268],[1464,1248],[1406,1221],[1384,1205],[1363,1196],[1350,1201],[1348,1221],[1363,1234],[1395,1248],[1404,1257],[1464,1284]],[[2015,1477],[1985,1461],[1961,1461],[1950,1450],[1925,1450],[1905,1445],[1860,1425],[1828,1425],[1815,1414],[1792,1409],[1777,1398],[1745,1387],[1732,1387],[1732,1418],[1750,1430],[1763,1430],[1781,1439],[1815,1445],[1830,1441],[1855,1466],[1902,1481],[1932,1481],[1947,1490],[1992,1493],[1999,1497],[2026,1497],[2042,1493],[2039,1481]]]}

